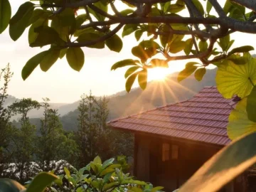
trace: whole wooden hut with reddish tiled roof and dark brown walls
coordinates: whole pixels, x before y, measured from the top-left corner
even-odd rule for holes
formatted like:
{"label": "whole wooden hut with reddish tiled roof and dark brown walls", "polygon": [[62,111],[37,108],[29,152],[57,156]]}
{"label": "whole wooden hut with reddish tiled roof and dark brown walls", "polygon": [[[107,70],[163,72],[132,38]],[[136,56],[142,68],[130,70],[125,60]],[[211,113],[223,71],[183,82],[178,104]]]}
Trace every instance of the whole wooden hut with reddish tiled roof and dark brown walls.
{"label": "whole wooden hut with reddish tiled roof and dark brown walls", "polygon": [[[226,127],[236,102],[237,98],[223,98],[216,87],[204,87],[190,100],[115,119],[109,125],[134,133],[134,175],[174,191],[230,143]],[[240,176],[222,191],[246,191],[242,181]]]}

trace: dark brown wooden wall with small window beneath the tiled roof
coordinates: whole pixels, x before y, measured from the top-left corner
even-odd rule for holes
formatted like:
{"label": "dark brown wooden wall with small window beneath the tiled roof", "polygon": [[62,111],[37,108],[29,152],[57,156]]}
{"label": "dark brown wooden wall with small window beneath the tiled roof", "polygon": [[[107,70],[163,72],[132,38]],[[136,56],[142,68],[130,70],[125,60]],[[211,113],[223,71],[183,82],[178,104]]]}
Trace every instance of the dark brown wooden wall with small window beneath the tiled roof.
{"label": "dark brown wooden wall with small window beneath the tiled roof", "polygon": [[[166,161],[163,161],[163,144],[170,146],[169,159]],[[178,146],[178,156],[176,153],[171,154],[171,146]],[[164,186],[165,191],[174,191],[220,149],[220,146],[200,142],[191,144],[186,141],[179,142],[171,137],[166,139],[136,133],[134,134],[134,174],[138,179],[149,181],[154,186]],[[234,185],[239,191],[234,189]],[[230,182],[220,191],[240,192],[241,190],[238,182]]]}

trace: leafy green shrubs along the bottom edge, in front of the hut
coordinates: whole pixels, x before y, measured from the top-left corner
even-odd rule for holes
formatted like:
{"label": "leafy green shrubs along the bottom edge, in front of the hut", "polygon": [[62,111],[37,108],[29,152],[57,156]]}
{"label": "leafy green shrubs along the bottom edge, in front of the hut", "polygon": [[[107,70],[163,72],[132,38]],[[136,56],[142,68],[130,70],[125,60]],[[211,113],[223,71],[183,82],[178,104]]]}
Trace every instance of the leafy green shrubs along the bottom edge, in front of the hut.
{"label": "leafy green shrubs along the bottom edge, in front of the hut", "polygon": [[4,191],[9,192],[43,192],[43,191],[134,191],[134,192],[156,192],[161,191],[162,187],[153,187],[150,183],[134,180],[129,174],[124,174],[127,163],[123,156],[119,156],[117,161],[108,159],[102,162],[99,156],[94,161],[83,167],[70,170],[64,167],[65,174],[55,176],[54,170],[51,172],[41,172],[28,181],[27,185],[21,186],[16,181],[7,178],[0,179],[0,186]]}

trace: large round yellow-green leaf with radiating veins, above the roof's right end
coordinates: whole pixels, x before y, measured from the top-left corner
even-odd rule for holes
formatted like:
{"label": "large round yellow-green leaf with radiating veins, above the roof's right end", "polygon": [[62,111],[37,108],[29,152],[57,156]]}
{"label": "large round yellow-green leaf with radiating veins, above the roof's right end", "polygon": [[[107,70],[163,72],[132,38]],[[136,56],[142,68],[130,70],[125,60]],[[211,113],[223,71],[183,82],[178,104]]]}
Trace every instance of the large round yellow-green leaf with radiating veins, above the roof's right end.
{"label": "large round yellow-green leaf with radiating veins, above the roof's right end", "polygon": [[235,65],[228,60],[218,68],[216,84],[223,97],[228,99],[233,95],[246,97],[252,91],[253,85],[256,84],[256,58],[252,58],[249,53],[246,53],[245,56],[247,57],[245,65]]}

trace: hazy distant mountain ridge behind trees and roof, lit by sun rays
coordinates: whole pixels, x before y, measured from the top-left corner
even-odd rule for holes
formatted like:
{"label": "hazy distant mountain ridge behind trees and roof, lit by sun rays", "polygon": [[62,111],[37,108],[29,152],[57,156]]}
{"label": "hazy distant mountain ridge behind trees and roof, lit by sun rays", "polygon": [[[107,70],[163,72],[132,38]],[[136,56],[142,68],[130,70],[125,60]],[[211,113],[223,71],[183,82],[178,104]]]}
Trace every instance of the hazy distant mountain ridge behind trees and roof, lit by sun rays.
{"label": "hazy distant mountain ridge behind trees and roof, lit by sun rays", "polygon": [[[137,114],[145,110],[151,110],[155,107],[188,100],[193,97],[205,86],[215,85],[216,69],[207,70],[206,77],[201,82],[191,77],[177,82],[178,73],[169,75],[164,82],[151,81],[148,83],[146,90],[141,90],[139,87],[132,89],[131,92],[117,92],[109,96],[109,120],[119,117],[125,117],[130,114]],[[13,98],[10,102],[14,100]],[[51,107],[58,109],[65,130],[75,130],[78,127],[78,110],[79,101],[72,104],[50,104]],[[40,126],[40,119],[43,110],[30,112],[31,123]],[[37,118],[35,118],[37,117]]]}

